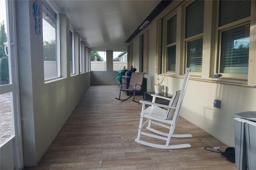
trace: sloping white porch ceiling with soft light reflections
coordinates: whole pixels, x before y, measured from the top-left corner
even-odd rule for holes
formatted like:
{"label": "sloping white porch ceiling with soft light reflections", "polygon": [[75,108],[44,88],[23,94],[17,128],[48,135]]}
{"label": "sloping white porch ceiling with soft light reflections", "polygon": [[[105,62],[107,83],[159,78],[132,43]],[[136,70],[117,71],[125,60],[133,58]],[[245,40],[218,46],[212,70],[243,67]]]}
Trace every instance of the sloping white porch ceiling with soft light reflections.
{"label": "sloping white porch ceiling with soft light reflections", "polygon": [[160,0],[55,0],[92,51],[126,51],[125,41]]}

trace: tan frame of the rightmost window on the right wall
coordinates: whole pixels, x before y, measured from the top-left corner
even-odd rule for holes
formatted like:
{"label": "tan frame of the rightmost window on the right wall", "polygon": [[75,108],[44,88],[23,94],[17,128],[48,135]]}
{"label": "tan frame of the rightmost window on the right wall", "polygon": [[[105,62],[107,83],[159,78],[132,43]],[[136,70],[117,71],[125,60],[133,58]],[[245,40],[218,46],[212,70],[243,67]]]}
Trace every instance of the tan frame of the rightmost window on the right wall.
{"label": "tan frame of the rightmost window on the right wall", "polygon": [[[220,2],[218,3],[218,11],[220,10]],[[251,10],[252,10],[252,2],[251,2]],[[217,23],[220,22],[220,12],[218,12],[218,20]],[[216,72],[220,75],[222,75],[222,79],[223,78],[228,78],[228,79],[242,79],[242,80],[247,80],[248,79],[248,75],[249,72],[247,74],[237,74],[237,73],[220,73],[220,62],[221,62],[221,46],[222,46],[222,32],[227,31],[227,30],[231,30],[233,28],[237,28],[239,26],[244,26],[246,24],[251,24],[251,14],[250,16],[246,17],[246,18],[242,18],[240,20],[234,21],[234,22],[230,22],[226,25],[223,26],[217,26],[217,31],[218,31],[218,40],[216,43],[218,43],[218,47],[217,47],[217,64],[216,64]],[[251,26],[250,26],[251,27]],[[251,28],[250,28],[250,32],[251,32]],[[250,35],[251,38],[251,35]],[[251,41],[250,41],[251,42]],[[250,55],[250,48],[249,48],[249,55]],[[248,70],[249,70],[249,65],[248,65]]]}

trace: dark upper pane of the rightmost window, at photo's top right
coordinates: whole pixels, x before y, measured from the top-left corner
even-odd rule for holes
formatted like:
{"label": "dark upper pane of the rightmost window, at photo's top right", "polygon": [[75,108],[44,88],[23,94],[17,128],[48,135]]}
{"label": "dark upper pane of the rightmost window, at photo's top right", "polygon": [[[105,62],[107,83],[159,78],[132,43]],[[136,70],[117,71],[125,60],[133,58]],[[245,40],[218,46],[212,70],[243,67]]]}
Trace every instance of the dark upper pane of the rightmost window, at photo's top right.
{"label": "dark upper pane of the rightmost window, at photo's top right", "polygon": [[246,18],[250,16],[250,13],[250,0],[222,0],[220,1],[219,26]]}

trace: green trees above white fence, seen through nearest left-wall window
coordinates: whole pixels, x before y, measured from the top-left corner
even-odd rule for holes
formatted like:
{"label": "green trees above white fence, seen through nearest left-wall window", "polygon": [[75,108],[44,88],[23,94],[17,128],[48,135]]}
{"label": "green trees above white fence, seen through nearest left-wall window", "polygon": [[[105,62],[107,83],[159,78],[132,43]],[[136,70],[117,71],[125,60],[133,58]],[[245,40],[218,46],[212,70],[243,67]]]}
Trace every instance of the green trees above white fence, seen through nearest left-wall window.
{"label": "green trees above white fence, seen through nearest left-wall window", "polygon": [[44,61],[56,61],[56,41],[44,41]]}

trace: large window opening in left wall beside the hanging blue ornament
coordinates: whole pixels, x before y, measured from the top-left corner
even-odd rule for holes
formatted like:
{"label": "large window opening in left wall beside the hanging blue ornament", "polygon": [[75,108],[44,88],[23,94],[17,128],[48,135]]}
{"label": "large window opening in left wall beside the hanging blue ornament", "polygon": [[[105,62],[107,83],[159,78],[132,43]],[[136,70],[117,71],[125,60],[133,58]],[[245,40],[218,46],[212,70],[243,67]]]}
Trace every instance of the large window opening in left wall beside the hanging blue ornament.
{"label": "large window opening in left wall beside the hanging blue ornament", "polygon": [[46,3],[42,2],[43,44],[44,44],[44,79],[60,77],[60,57],[57,49],[57,14]]}

